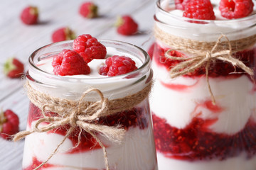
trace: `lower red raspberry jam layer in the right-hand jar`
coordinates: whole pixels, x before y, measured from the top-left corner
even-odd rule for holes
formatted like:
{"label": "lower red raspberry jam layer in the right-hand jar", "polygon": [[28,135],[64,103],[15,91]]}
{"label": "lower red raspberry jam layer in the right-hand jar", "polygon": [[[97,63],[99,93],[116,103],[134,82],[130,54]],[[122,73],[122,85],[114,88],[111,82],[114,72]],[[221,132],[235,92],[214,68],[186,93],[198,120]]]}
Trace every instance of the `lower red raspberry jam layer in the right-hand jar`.
{"label": "lower red raspberry jam layer in the right-hand jar", "polygon": [[242,152],[250,159],[256,154],[256,123],[252,119],[234,135],[212,132],[208,127],[217,120],[195,117],[186,128],[178,129],[153,115],[156,150],[165,157],[188,161],[224,160]]}

